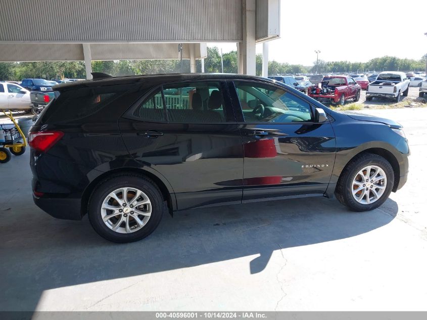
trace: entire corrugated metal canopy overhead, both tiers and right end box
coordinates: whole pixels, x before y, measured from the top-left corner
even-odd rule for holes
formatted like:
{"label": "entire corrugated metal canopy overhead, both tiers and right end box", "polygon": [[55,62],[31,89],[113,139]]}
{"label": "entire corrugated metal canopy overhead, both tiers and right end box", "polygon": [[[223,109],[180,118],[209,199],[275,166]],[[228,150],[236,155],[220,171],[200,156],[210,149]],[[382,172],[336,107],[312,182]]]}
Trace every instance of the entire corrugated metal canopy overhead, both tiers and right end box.
{"label": "entire corrugated metal canopy overhead, both tiers and right end box", "polygon": [[279,35],[279,0],[15,0],[2,7],[1,61],[84,60],[86,71],[91,60],[177,59],[177,43],[193,62],[206,56],[205,42],[238,42],[246,61],[257,40]]}

